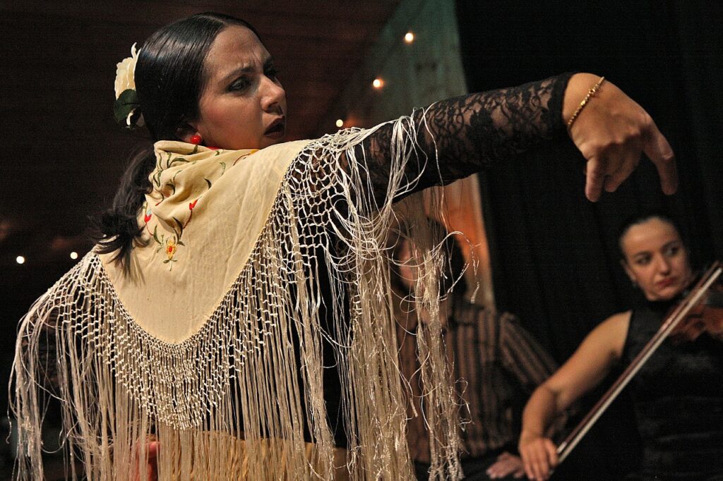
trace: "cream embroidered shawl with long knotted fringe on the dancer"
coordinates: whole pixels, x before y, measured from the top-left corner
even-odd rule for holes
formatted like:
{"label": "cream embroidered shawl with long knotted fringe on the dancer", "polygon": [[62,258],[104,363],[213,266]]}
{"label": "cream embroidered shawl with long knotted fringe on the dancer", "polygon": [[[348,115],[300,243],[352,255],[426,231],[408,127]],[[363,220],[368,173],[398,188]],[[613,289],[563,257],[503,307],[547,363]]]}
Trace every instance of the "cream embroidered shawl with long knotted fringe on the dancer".
{"label": "cream embroidered shawl with long knotted fringe on the dancer", "polygon": [[[414,188],[403,175],[417,155],[414,129],[408,118],[395,124],[387,199]],[[373,131],[260,151],[156,144],[154,190],[139,215],[145,242],[129,271],[90,252],[22,321],[13,411],[27,458],[18,476],[43,477],[49,339],[73,478],[131,479],[151,436],[161,480],[411,478],[386,243],[399,209],[377,205],[367,160],[353,149]],[[424,216],[419,199],[403,210]],[[414,225],[428,249],[418,292],[437,293],[439,252],[424,223]],[[320,269],[330,274],[333,329],[319,315]],[[434,295],[418,302],[437,309]],[[440,326],[422,330],[432,475],[454,478]],[[335,345],[348,451],[335,449],[327,421],[323,339]]]}

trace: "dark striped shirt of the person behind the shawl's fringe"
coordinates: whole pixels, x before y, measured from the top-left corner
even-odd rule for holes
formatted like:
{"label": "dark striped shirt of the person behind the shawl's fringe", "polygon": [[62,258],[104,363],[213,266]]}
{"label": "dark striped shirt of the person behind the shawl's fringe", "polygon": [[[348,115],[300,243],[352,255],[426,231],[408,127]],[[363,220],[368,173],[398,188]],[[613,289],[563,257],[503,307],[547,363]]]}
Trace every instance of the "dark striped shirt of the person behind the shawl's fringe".
{"label": "dark striped shirt of the person behind the shawl's fringe", "polygon": [[[399,312],[399,311],[398,311]],[[398,319],[401,368],[410,380],[417,412],[422,412],[419,394],[419,362],[416,337],[410,326],[414,313]],[[398,314],[398,318],[400,315]],[[414,316],[416,317],[416,316]],[[416,319],[415,319],[416,324]],[[454,376],[466,406],[461,408],[461,433],[466,456],[484,456],[489,451],[515,445],[520,433],[520,412],[532,391],[547,379],[557,365],[532,335],[510,313],[496,316],[482,306],[455,299],[445,330]],[[421,415],[410,416],[407,439],[411,456],[429,462],[429,438]]]}

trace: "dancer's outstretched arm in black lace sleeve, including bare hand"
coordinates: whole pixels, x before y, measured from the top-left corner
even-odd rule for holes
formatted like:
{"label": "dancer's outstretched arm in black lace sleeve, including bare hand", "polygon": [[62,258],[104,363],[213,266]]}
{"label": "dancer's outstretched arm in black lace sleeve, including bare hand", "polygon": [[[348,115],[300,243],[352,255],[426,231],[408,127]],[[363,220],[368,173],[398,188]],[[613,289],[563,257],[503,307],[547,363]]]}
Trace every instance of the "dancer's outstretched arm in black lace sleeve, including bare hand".
{"label": "dancer's outstretched arm in black lace sleeve, including bare hand", "polygon": [[[599,77],[563,74],[519,87],[442,100],[416,110],[411,126],[422,152],[406,170],[419,175],[411,191],[455,181],[546,140],[562,137],[566,123]],[[395,123],[382,125],[364,141],[369,177],[377,199],[386,194]],[[569,132],[587,160],[586,195],[615,190],[643,152],[656,164],[664,192],[677,187],[669,144],[643,108],[604,82],[581,110]],[[437,157],[435,157],[435,155]],[[437,158],[437,162],[432,160]],[[401,198],[401,196],[400,196]]]}

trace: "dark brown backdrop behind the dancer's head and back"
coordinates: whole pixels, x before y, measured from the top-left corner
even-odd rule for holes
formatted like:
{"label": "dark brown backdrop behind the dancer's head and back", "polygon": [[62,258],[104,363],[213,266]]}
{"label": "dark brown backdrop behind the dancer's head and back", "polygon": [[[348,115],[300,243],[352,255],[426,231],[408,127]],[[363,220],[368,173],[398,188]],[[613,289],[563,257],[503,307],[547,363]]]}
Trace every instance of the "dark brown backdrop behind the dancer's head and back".
{"label": "dark brown backdrop behind the dancer's head and back", "polygon": [[[90,249],[89,215],[109,206],[129,155],[147,142],[113,118],[116,63],[134,42],[205,11],[249,20],[286,88],[288,139],[314,138],[336,130],[322,119],[398,3],[0,1],[0,386],[7,386],[20,316],[77,262],[71,251]],[[52,413],[48,423],[57,424]],[[6,431],[0,420],[0,480],[9,478]],[[51,468],[47,477],[63,473]]]}

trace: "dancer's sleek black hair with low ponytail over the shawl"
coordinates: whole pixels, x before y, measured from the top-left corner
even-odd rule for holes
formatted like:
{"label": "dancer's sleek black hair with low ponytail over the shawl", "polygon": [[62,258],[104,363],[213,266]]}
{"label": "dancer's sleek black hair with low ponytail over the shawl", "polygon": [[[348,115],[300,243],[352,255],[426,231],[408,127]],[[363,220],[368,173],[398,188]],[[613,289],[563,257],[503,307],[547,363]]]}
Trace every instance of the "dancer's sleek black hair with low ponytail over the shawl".
{"label": "dancer's sleek black hair with low ponytail over the shawl", "polygon": [[[216,36],[229,25],[247,27],[248,22],[213,12],[161,27],[140,49],[135,67],[135,87],[140,113],[153,142],[179,140],[178,132],[199,116],[199,101],[207,74],[204,61]],[[93,237],[101,254],[116,252],[114,261],[124,264],[137,242],[137,222],[145,194],[152,190],[148,175],[155,165],[152,147],[132,155],[113,206],[94,219],[98,231]]]}

